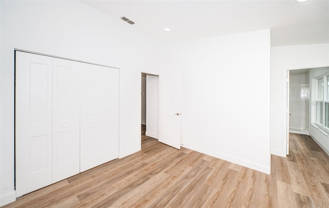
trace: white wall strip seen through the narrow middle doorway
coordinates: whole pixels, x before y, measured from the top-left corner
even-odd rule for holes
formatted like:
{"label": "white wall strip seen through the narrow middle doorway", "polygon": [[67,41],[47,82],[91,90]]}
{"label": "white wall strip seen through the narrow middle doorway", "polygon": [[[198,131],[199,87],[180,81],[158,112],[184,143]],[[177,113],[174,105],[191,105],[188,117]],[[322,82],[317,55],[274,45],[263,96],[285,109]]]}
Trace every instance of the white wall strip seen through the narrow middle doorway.
{"label": "white wall strip seen through the narrow middle doorway", "polygon": [[146,97],[146,132],[145,135],[158,139],[159,118],[159,77],[147,74],[147,97]]}

